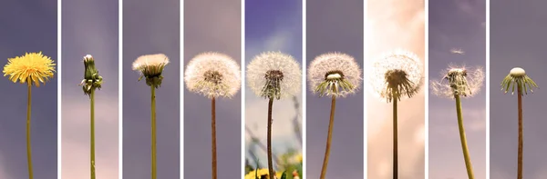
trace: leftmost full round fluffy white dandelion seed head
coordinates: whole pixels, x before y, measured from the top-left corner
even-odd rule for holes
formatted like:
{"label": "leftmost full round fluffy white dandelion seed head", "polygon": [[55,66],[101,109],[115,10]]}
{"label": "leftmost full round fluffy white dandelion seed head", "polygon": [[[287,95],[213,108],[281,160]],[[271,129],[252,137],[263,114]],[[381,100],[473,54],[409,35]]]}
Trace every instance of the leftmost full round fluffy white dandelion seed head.
{"label": "leftmost full round fluffy white dandelion seed head", "polygon": [[240,66],[228,55],[215,52],[194,56],[184,73],[186,88],[209,98],[237,94],[241,87]]}

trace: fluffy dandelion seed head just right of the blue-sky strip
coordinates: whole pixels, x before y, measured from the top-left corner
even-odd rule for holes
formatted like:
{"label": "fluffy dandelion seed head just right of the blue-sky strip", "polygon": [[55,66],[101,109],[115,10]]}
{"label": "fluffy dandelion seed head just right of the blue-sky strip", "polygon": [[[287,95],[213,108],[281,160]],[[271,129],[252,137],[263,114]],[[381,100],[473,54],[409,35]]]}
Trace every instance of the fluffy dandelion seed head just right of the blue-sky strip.
{"label": "fluffy dandelion seed head just right of the blue-sky strip", "polygon": [[315,57],[308,67],[308,81],[314,94],[340,96],[355,94],[363,78],[354,57],[327,53]]}

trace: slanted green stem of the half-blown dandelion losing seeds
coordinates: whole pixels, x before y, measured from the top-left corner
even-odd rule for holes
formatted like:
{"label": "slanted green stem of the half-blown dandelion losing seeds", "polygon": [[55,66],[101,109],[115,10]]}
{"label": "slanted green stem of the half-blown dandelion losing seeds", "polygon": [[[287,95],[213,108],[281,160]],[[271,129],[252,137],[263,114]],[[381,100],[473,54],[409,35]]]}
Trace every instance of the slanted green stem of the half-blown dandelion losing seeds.
{"label": "slanted green stem of the half-blown dandelion losing seeds", "polygon": [[473,174],[473,167],[471,165],[470,151],[467,145],[467,138],[465,136],[465,129],[463,127],[463,116],[461,113],[461,100],[459,99],[459,94],[455,94],[456,98],[456,112],[458,113],[458,128],[459,128],[459,140],[461,141],[461,149],[463,150],[463,159],[465,160],[465,167],[468,172],[468,177],[470,179],[475,178]]}

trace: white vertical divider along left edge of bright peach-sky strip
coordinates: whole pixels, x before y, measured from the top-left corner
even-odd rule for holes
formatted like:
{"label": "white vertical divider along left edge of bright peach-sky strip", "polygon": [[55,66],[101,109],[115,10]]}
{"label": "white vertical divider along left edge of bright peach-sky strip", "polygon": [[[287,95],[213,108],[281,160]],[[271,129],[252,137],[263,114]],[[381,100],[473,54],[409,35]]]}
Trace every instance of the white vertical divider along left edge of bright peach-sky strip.
{"label": "white vertical divider along left edge of bright peach-sky strip", "polygon": [[366,72],[366,55],[367,55],[367,28],[368,28],[368,21],[366,19],[366,13],[368,12],[367,11],[367,1],[368,0],[365,0],[363,1],[363,178],[366,179],[368,178],[368,174],[367,174],[367,170],[368,170],[368,130],[367,130],[367,127],[368,127],[368,124],[367,124],[367,120],[366,120],[366,78],[365,78],[365,72]]}

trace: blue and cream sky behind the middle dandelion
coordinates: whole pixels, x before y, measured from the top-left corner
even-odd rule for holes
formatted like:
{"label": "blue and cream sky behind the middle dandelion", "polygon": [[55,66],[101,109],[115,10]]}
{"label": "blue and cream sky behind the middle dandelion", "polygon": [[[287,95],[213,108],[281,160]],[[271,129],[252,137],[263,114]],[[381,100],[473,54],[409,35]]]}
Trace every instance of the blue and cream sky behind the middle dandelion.
{"label": "blue and cream sky behind the middle dandelion", "polygon": [[[245,2],[245,64],[255,55],[266,51],[281,51],[292,55],[302,67],[302,1],[246,1]],[[245,82],[246,83],[246,82]],[[268,100],[256,96],[247,84],[245,86],[245,125],[266,144]],[[299,104],[302,94],[296,95]],[[298,116],[297,116],[298,115]],[[301,125],[301,110],[294,109],[291,98],[275,100],[273,106],[272,145],[274,154],[285,153],[293,148],[302,151],[294,133],[294,117]],[[251,135],[245,134],[245,144],[251,142]],[[248,151],[250,148],[247,147]],[[266,153],[257,150],[262,166],[267,167]],[[249,158],[249,153],[247,153]],[[253,160],[251,161],[252,165]]]}

